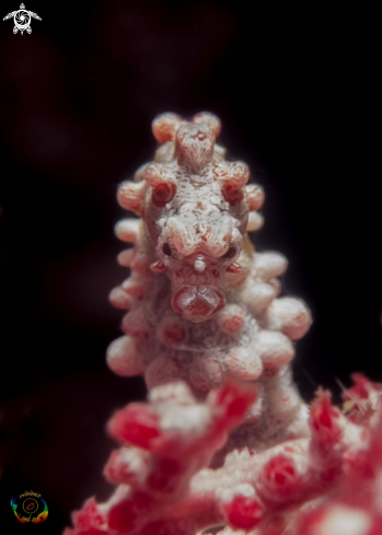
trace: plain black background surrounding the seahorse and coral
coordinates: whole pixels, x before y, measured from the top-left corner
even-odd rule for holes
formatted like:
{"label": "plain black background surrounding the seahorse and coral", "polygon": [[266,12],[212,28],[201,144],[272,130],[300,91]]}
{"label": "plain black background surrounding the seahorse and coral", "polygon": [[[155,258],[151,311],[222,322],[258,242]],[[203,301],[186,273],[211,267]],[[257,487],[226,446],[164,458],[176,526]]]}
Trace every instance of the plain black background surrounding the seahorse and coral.
{"label": "plain black background surrounding the seahorse and coral", "polygon": [[[19,0],[1,3],[1,19]],[[382,381],[377,13],[320,3],[27,0],[33,33],[0,24],[1,526],[50,534],[89,496],[111,412],[143,399],[115,376],[107,302],[126,271],[113,234],[119,182],[150,160],[151,120],[200,111],[266,191],[261,251],[289,259],[286,292],[314,324],[298,342],[306,399],[352,371]],[[11,496],[38,490],[44,525]]]}

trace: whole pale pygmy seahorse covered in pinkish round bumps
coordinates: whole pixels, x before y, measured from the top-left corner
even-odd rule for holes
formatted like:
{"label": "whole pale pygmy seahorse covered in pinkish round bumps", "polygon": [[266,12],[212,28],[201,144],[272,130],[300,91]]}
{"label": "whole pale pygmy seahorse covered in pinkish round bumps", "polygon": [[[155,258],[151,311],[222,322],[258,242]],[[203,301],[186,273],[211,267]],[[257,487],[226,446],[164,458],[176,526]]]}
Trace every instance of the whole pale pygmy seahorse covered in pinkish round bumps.
{"label": "whole pale pygmy seahorse covered in pinkish round bumps", "polygon": [[114,372],[144,375],[149,389],[183,380],[204,399],[227,377],[256,383],[259,395],[216,466],[236,446],[309,435],[289,363],[311,324],[301,301],[278,296],[286,259],[256,253],[246,234],[263,223],[264,194],[246,185],[243,162],[224,159],[219,132],[212,114],[189,123],[160,115],[154,161],[120,185],[120,206],[140,219],[116,225],[132,244],[118,257],[131,271],[111,301],[129,312],[107,352]]}

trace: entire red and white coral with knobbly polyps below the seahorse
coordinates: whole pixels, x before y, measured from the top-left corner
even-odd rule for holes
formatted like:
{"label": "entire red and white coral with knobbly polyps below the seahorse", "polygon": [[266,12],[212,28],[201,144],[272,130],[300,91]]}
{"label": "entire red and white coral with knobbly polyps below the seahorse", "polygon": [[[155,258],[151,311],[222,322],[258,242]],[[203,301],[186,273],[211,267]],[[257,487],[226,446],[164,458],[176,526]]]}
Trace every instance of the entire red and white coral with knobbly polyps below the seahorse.
{"label": "entire red and white coral with knobbly polyps below the seahorse", "polygon": [[[377,386],[372,392],[381,394]],[[245,383],[228,383],[198,403],[177,382],[152,389],[149,404],[116,412],[108,431],[124,447],[112,454],[105,475],[119,487],[106,503],[88,501],[66,535],[195,535],[222,524],[228,525],[224,534],[232,528],[256,535],[332,535],[342,533],[338,526],[346,522],[342,510],[356,504],[357,484],[362,492],[358,517],[380,526],[382,407],[373,421],[355,423],[332,405],[328,393],[319,391],[310,439],[262,453],[235,450],[221,468],[207,468],[256,395]],[[337,531],[323,531],[331,522]]]}

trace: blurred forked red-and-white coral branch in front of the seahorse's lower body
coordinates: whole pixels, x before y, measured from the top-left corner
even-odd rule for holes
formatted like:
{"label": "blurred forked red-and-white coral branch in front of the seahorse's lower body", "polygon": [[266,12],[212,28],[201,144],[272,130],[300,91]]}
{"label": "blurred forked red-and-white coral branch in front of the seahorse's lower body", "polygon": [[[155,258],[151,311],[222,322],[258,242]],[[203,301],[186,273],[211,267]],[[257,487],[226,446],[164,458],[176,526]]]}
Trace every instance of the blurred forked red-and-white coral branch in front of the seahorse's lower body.
{"label": "blurred forked red-and-white coral branch in front of the seahorse's lower body", "polygon": [[[206,403],[197,403],[184,383],[173,383],[154,388],[150,405],[131,404],[116,412],[108,432],[129,447],[112,454],[105,475],[119,487],[104,504],[88,501],[73,515],[76,528],[66,534],[192,534],[197,517],[182,528],[184,516],[174,521],[171,515],[176,516],[176,505],[189,493],[193,475],[209,464],[256,395],[253,387],[228,383]],[[208,513],[215,521],[211,505]]]}

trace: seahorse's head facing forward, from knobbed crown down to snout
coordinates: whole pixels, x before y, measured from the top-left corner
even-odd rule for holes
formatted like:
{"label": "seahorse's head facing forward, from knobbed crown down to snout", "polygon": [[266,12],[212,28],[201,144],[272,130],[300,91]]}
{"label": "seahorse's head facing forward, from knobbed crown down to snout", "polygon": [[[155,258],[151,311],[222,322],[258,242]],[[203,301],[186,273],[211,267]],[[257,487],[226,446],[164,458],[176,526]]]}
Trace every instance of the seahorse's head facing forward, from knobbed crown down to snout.
{"label": "seahorse's head facing forward, from knobbed crown down to snout", "polygon": [[216,144],[220,123],[211,114],[190,123],[164,114],[153,131],[162,147],[144,174],[144,220],[159,257],[152,269],[171,279],[173,309],[205,322],[225,304],[227,270],[240,269],[248,170],[223,160]]}

